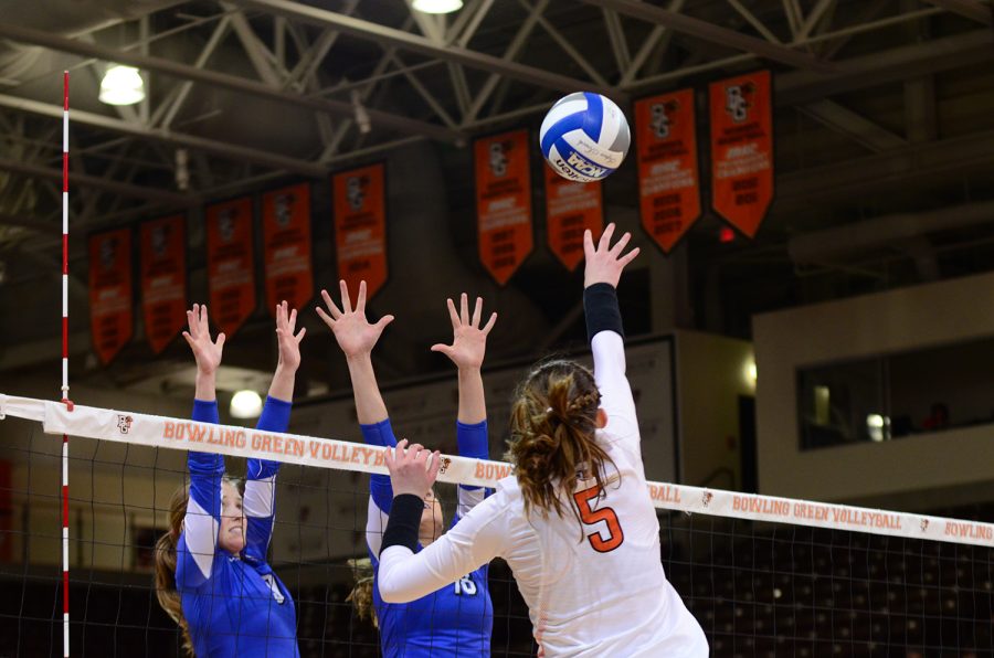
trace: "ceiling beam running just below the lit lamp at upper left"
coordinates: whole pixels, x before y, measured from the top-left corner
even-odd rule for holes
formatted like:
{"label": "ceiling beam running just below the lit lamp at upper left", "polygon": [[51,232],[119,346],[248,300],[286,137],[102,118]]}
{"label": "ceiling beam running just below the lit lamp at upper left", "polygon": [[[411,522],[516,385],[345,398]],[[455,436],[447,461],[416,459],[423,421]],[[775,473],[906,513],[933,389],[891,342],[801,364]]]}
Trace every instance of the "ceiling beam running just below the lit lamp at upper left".
{"label": "ceiling beam running just below the lit lamp at upper left", "polygon": [[[38,100],[31,100],[28,98],[18,98],[15,96],[0,94],[0,107],[9,107],[11,109],[62,119],[61,105],[49,105],[46,103],[40,103]],[[193,135],[184,135],[182,132],[173,132],[172,130],[148,128],[146,126],[129,124],[121,119],[94,114],[92,112],[84,112],[81,109],[70,110],[70,123],[91,126],[94,128],[102,128],[104,130],[110,130],[113,132],[121,132],[142,139],[162,141],[175,146],[182,146],[194,150],[213,153],[215,156],[230,160],[252,162],[253,164],[260,164],[262,167],[299,173],[309,178],[321,178],[328,172],[324,166],[316,164],[307,160],[287,158],[285,156],[261,151],[257,149],[229,144],[225,141],[207,139],[204,137],[197,137]]]}

